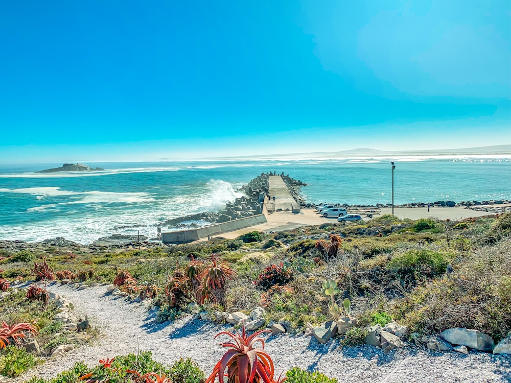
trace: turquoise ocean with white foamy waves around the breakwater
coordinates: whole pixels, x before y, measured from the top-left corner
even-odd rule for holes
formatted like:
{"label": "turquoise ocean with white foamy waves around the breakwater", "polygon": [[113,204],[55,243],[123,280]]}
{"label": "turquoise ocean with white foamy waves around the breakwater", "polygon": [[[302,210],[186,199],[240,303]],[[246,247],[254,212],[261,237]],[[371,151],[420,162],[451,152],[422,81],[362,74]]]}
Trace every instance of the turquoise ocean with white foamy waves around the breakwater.
{"label": "turquoise ocean with white foamy waves around the breakwater", "polygon": [[[0,165],[0,240],[156,235],[155,224],[218,211],[263,172],[307,183],[306,201],[347,204],[511,200],[511,156],[86,163],[105,171],[38,174],[62,164]],[[194,222],[205,225],[206,222]],[[175,228],[177,229],[177,228]]]}

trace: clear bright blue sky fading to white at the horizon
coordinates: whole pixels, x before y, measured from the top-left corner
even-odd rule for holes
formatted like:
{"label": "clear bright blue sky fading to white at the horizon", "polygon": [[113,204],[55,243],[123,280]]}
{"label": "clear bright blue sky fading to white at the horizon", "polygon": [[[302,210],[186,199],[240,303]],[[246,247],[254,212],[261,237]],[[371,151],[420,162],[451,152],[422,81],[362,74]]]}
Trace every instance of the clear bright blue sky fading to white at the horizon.
{"label": "clear bright blue sky fading to white at the horizon", "polygon": [[4,1],[0,162],[511,143],[511,2]]}

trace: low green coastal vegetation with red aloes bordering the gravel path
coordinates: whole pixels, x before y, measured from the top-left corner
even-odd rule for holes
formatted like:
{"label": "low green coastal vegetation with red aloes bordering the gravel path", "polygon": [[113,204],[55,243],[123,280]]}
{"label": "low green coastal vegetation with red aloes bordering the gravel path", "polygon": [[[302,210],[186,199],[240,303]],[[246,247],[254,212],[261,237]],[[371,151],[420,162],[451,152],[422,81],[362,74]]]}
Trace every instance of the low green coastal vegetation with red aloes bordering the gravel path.
{"label": "low green coastal vegetation with red aloes bordering the gravel path", "polygon": [[[271,235],[251,232],[234,241],[215,238],[141,250],[4,251],[0,290],[12,290],[15,279],[108,282],[131,298],[153,299],[152,304],[160,307],[159,321],[178,318],[190,303],[211,314],[248,314],[261,306],[266,323],[288,323],[294,333],[349,314],[355,326],[342,335],[340,344],[344,346],[360,344],[365,326],[383,326],[390,320],[406,325],[408,334],[422,336],[466,327],[498,342],[511,331],[510,223],[510,213],[462,222],[414,222],[382,216],[363,223]],[[51,332],[56,310],[44,291],[34,288],[30,297],[20,293],[13,297],[0,301],[2,320],[20,321],[28,314],[39,322],[38,337]],[[237,334],[233,339],[237,339],[233,345],[248,342],[246,351],[257,336],[249,340],[246,334]],[[249,357],[254,369],[248,377],[260,371],[260,381],[267,381],[264,368],[257,370],[254,355]],[[226,364],[217,365],[217,376],[222,368],[238,371],[237,366],[245,366],[245,360],[227,358]],[[267,366],[265,356],[259,360],[261,366]],[[115,373],[130,368],[121,366],[120,357],[114,361]],[[91,372],[86,366],[76,368],[73,376]],[[99,373],[100,368],[93,370]],[[160,378],[165,374],[170,381],[179,381],[171,370],[137,371],[141,376],[154,372]],[[298,381],[297,376],[300,381],[335,381],[320,374],[291,371],[288,381]],[[264,372],[268,381],[277,380]],[[155,376],[147,378],[157,381]]]}

